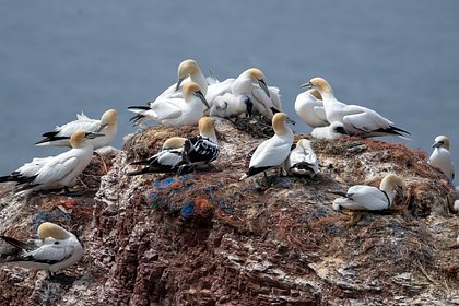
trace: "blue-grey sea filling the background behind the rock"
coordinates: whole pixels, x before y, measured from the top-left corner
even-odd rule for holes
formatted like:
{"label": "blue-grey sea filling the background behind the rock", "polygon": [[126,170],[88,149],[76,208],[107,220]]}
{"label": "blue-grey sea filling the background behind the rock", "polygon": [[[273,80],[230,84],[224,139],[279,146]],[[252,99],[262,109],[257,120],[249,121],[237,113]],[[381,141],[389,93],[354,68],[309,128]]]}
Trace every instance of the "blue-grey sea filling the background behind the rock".
{"label": "blue-grey sea filling the background behind the rock", "polygon": [[429,154],[448,136],[459,165],[458,16],[457,0],[1,1],[0,175],[66,150],[33,143],[82,110],[116,108],[121,148],[136,131],[127,107],[187,58],[221,80],[260,68],[297,121],[298,86],[323,76],[340,101],[410,131],[411,148]]}

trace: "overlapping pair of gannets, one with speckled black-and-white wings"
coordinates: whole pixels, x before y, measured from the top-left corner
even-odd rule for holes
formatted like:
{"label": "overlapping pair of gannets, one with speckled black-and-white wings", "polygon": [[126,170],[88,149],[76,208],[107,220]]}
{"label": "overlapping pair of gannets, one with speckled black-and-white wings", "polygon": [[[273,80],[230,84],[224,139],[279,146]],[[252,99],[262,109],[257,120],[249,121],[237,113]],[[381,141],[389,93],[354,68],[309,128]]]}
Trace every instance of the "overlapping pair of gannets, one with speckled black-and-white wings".
{"label": "overlapping pair of gannets, one with speckled black-and-white wings", "polygon": [[202,117],[198,123],[199,136],[186,139],[173,137],[166,140],[162,151],[144,161],[131,165],[146,165],[146,167],[128,173],[139,175],[145,173],[178,173],[185,174],[202,166],[209,166],[220,154],[213,120]]}

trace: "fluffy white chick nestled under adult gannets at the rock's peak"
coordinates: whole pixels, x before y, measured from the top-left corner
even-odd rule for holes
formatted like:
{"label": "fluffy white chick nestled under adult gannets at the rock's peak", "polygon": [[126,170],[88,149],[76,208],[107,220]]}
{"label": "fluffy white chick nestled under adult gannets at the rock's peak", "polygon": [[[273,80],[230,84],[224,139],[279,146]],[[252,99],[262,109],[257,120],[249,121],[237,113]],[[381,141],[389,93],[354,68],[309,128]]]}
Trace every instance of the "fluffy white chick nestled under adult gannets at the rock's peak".
{"label": "fluffy white chick nestled under adult gannets at the rock's peak", "polygon": [[209,115],[220,118],[239,117],[240,115],[251,117],[252,108],[254,103],[248,96],[235,96],[232,93],[226,93],[214,99]]}

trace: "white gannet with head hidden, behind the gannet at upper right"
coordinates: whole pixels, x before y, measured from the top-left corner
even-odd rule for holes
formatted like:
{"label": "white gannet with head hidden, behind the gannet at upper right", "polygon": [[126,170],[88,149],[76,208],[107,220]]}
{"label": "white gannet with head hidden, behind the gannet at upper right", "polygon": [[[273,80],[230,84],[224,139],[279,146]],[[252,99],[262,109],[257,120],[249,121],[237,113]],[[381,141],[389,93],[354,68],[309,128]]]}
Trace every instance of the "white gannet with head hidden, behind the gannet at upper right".
{"label": "white gannet with head hidden, behind the gannet at upper right", "polygon": [[323,102],[316,89],[307,90],[296,96],[295,111],[311,128],[329,125],[323,109]]}

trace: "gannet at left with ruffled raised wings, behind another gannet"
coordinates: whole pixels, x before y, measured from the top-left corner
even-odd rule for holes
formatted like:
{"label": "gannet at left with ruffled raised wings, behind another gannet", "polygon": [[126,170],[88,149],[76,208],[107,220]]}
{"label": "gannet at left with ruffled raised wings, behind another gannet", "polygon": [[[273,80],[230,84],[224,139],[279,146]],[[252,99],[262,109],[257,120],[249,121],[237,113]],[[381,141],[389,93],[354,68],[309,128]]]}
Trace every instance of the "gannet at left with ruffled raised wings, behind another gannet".
{"label": "gannet at left with ruffled raised wings, behind another gannet", "polygon": [[102,115],[101,120],[90,119],[83,113],[76,115],[76,120],[71,121],[61,127],[56,127],[51,132],[43,134],[45,139],[36,142],[36,145],[55,145],[55,146],[71,146],[70,137],[76,130],[83,130],[87,132],[103,133],[103,137],[98,137],[89,142],[92,143],[94,150],[106,146],[111,143],[116,136],[118,122],[118,113],[115,109],[108,109]]}

